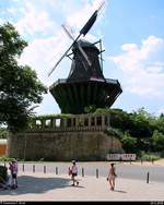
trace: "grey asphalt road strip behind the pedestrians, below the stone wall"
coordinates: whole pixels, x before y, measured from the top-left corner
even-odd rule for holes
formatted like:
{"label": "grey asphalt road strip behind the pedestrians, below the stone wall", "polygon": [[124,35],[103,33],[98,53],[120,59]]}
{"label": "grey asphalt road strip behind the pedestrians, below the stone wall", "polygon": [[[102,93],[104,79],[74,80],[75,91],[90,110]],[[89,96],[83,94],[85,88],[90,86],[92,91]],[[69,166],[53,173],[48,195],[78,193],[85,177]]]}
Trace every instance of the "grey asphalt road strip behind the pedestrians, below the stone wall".
{"label": "grey asphalt road strip behind the pedestrians, below the stone wall", "polygon": [[[78,162],[80,176],[107,177],[109,162]],[[7,165],[8,166],[8,165]],[[71,162],[25,162],[19,164],[19,170],[24,172],[47,172],[55,174],[67,174]],[[149,181],[164,182],[164,166],[143,166],[133,164],[116,162],[116,172],[119,178],[139,179],[147,181],[149,172]]]}

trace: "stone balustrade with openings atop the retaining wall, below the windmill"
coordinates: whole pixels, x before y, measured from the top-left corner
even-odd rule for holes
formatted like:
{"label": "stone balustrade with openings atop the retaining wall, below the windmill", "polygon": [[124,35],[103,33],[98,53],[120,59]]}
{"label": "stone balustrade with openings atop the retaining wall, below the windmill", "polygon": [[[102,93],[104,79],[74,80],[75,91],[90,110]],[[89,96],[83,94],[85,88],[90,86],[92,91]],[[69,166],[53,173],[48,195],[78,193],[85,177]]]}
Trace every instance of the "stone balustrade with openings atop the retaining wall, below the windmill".
{"label": "stone balustrade with openings atop the retaining wall, below the windmill", "polygon": [[59,117],[35,118],[28,131],[79,132],[105,131],[109,126],[109,114],[69,114]]}

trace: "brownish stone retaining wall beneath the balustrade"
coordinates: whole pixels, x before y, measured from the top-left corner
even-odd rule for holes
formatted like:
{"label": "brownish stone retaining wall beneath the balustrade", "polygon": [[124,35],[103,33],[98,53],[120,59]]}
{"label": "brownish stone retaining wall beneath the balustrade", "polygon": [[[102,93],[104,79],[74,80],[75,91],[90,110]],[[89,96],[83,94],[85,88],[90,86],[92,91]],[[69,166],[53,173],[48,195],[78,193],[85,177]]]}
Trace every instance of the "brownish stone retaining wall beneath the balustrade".
{"label": "brownish stone retaining wall beneath the balustrade", "polygon": [[102,131],[43,131],[10,135],[7,153],[24,160],[105,160],[109,149],[120,153],[121,143]]}

